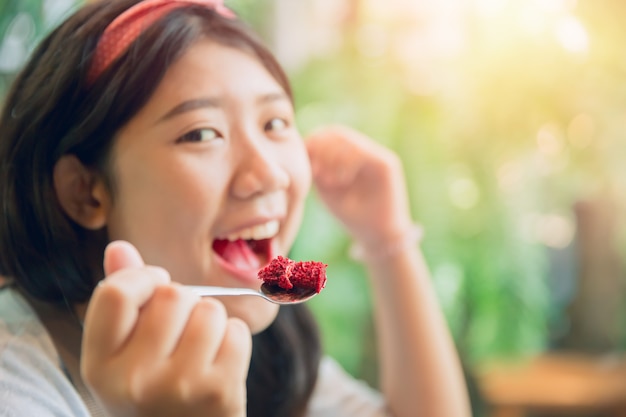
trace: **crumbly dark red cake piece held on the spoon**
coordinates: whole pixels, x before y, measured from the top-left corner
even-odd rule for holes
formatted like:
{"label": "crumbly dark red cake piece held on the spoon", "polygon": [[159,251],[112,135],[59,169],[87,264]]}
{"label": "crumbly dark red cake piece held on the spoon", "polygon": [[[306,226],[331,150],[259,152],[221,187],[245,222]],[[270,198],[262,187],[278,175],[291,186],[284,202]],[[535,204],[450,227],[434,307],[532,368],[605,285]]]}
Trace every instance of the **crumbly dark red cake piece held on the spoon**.
{"label": "crumbly dark red cake piece held on the spoon", "polygon": [[315,261],[293,261],[278,256],[259,271],[259,279],[267,285],[278,286],[285,291],[315,290],[319,293],[326,285],[326,267]]}

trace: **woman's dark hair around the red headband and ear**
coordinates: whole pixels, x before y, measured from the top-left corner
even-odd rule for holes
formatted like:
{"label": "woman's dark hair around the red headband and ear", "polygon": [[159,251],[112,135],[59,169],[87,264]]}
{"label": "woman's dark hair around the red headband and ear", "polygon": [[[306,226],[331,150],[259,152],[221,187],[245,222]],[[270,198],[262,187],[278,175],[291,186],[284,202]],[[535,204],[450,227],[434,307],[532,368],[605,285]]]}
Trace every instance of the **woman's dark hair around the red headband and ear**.
{"label": "woman's dark hair around the red headband and ear", "polygon": [[[170,65],[203,37],[248,51],[291,97],[272,53],[237,19],[202,5],[175,9],[147,28],[93,84],[87,74],[106,26],[138,0],[96,2],[50,33],[18,75],[0,118],[0,274],[31,296],[85,302],[104,275],[106,229],[72,221],[57,199],[55,163],[75,155],[115,190],[116,132],[149,100]],[[248,415],[296,416],[317,377],[319,334],[304,306],[281,308],[254,336]],[[280,393],[280,394],[277,394]]]}

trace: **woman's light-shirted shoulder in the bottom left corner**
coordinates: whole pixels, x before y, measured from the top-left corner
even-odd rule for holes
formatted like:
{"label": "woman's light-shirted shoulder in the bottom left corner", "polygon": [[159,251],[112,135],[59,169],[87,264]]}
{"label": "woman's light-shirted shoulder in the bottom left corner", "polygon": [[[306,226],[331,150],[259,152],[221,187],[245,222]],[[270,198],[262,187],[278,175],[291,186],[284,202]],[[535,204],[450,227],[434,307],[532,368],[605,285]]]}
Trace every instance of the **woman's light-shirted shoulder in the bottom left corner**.
{"label": "woman's light-shirted shoulder in the bottom left corner", "polygon": [[87,416],[29,304],[0,289],[0,416]]}

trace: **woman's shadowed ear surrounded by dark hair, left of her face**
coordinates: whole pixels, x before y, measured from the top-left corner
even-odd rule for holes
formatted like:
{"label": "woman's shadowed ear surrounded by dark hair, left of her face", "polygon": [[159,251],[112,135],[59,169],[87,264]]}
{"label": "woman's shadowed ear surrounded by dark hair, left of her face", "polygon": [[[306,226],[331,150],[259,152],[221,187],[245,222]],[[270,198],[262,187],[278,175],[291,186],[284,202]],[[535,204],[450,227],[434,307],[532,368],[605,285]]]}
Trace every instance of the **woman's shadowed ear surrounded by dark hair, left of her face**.
{"label": "woman's shadowed ear surrounded by dark hair, left of her face", "polygon": [[76,223],[97,230],[106,225],[109,194],[101,178],[74,155],[54,165],[54,189],[61,207]]}

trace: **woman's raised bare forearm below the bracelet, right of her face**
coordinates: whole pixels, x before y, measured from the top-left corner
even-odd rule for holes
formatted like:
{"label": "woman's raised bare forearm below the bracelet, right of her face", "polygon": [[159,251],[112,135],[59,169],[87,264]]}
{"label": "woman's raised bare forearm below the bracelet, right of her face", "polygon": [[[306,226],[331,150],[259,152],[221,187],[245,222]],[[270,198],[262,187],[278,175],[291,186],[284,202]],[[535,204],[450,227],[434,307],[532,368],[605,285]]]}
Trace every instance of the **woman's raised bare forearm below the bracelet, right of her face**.
{"label": "woman's raised bare forearm below the bracelet, right of her face", "polygon": [[381,389],[395,417],[470,416],[460,361],[419,250],[369,259]]}

